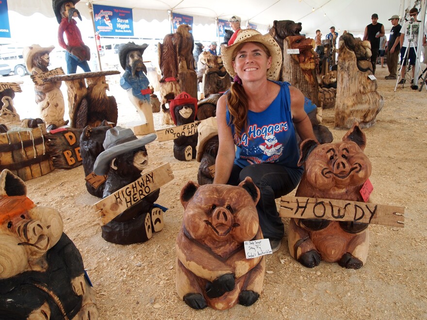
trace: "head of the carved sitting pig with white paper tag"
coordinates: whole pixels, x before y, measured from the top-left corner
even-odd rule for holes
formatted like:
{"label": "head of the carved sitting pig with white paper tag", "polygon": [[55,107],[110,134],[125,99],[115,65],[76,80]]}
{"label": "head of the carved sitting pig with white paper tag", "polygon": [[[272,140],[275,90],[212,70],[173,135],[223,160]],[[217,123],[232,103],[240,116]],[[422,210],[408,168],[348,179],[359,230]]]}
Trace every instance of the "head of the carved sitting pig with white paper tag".
{"label": "head of the carved sitting pig with white paper tag", "polygon": [[260,192],[249,177],[239,186],[189,181],[181,190],[183,226],[191,238],[213,247],[252,240],[259,228],[256,204]]}

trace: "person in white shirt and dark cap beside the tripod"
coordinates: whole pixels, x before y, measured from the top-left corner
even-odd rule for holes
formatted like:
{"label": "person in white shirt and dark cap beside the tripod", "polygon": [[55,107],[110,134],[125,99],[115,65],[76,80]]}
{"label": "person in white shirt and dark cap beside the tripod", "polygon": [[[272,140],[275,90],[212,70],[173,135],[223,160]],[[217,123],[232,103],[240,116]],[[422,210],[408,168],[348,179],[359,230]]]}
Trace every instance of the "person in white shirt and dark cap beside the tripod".
{"label": "person in white shirt and dark cap beside the tripod", "polygon": [[[417,19],[418,16],[418,9],[412,8],[409,11],[410,19],[409,21],[405,21],[403,23],[402,29],[400,32],[400,75],[402,79],[400,80],[399,84],[403,84],[405,82],[405,72],[406,72],[406,64],[408,63],[408,57],[410,60],[410,64],[413,66],[415,65],[415,60],[417,58],[416,51],[417,51],[417,44],[418,44],[418,34],[420,31],[420,22]],[[424,31],[426,32],[426,30]],[[412,44],[410,45],[410,40]],[[409,47],[409,48],[408,48]],[[406,48],[409,49],[409,52],[406,52]],[[405,53],[407,56],[405,57]],[[415,68],[412,67],[412,77],[413,80],[415,74]],[[412,82],[411,80],[411,82]]]}

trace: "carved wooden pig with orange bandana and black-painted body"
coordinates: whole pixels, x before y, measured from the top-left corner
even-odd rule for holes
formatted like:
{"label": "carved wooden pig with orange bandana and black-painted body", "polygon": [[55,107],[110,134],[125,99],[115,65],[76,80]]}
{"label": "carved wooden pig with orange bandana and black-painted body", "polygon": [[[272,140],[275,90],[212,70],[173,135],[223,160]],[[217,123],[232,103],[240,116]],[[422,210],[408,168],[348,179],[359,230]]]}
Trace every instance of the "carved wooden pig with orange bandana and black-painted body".
{"label": "carved wooden pig with orange bandana and black-painted body", "polygon": [[59,212],[36,206],[24,182],[0,174],[0,319],[98,319],[82,256]]}

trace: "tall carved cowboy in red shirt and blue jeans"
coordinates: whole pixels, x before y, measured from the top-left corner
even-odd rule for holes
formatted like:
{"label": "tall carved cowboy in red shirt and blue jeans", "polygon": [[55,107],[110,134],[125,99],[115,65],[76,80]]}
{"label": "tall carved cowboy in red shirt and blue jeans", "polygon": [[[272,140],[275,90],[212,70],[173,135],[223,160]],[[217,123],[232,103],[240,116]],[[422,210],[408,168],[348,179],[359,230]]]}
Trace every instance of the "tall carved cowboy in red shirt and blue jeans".
{"label": "tall carved cowboy in red shirt and blue jeans", "polygon": [[[76,20],[73,17],[80,16],[79,10],[74,5],[80,0],[52,0],[53,11],[59,23],[58,42],[59,45],[66,49],[65,60],[67,64],[67,73],[76,73],[77,66],[80,66],[84,72],[90,72],[89,64],[90,49],[82,40],[82,34],[77,27]],[[68,44],[64,41],[64,32]]]}

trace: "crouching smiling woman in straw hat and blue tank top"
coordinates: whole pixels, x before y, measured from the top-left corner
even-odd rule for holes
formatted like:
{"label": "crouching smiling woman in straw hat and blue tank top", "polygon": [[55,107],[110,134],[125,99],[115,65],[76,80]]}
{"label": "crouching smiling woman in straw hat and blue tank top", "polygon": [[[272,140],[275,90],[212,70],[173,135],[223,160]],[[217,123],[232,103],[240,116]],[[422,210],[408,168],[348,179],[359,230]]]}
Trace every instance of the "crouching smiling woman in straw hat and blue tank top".
{"label": "crouching smiling woman in straw hat and blue tank top", "polygon": [[274,81],[282,55],[271,35],[242,30],[233,45],[221,50],[234,83],[216,106],[219,149],[213,183],[237,185],[246,176],[252,178],[261,192],[261,229],[275,252],[284,235],[275,199],[295,189],[303,172],[297,166],[294,128],[301,140],[315,139],[312,125],[302,93]]}

